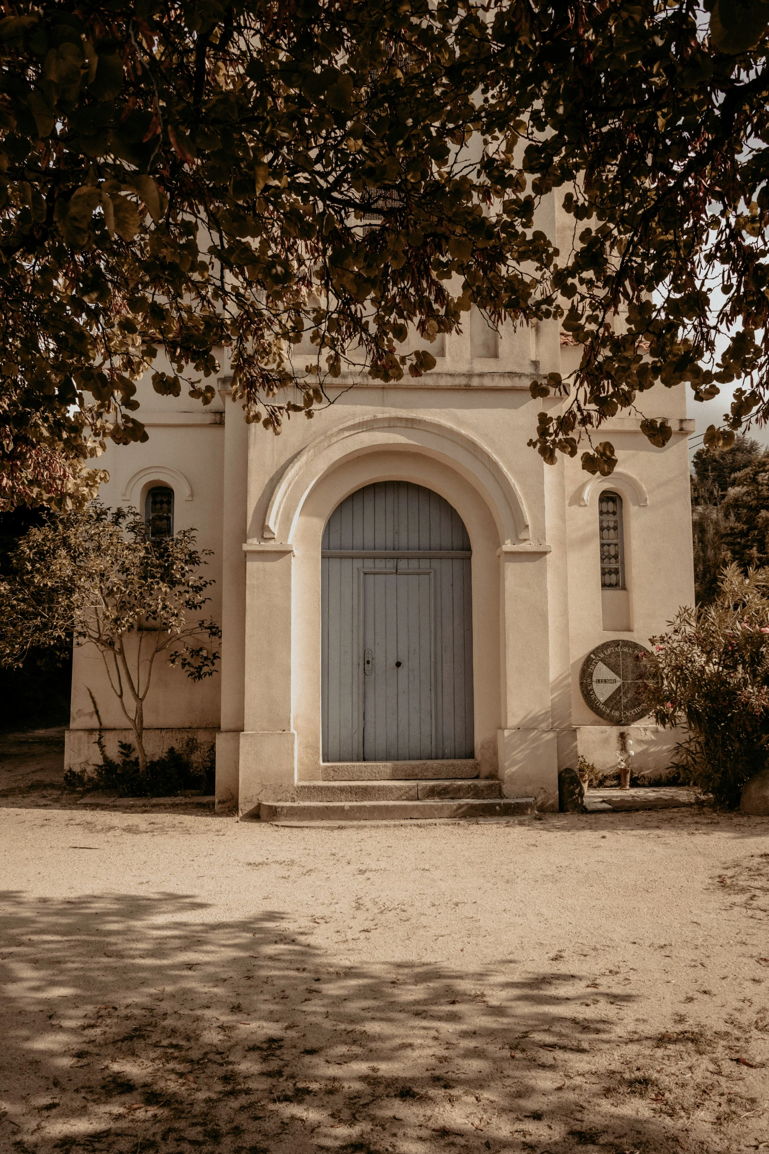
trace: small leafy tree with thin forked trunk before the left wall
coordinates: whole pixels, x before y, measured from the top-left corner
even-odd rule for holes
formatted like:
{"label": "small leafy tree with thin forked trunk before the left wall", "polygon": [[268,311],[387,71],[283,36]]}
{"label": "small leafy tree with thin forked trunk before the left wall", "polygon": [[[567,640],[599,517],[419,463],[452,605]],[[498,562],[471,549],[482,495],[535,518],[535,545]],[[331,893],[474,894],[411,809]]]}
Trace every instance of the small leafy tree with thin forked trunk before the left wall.
{"label": "small leafy tree with thin forked trunk before the left wall", "polygon": [[0,664],[21,666],[33,647],[96,645],[110,685],[133,729],[140,773],[146,773],[144,702],[156,660],[181,666],[193,681],[214,673],[221,636],[195,619],[213,584],[199,568],[210,549],[195,548],[195,530],[152,539],[135,509],[100,502],[31,529],[0,580],[3,624]]}

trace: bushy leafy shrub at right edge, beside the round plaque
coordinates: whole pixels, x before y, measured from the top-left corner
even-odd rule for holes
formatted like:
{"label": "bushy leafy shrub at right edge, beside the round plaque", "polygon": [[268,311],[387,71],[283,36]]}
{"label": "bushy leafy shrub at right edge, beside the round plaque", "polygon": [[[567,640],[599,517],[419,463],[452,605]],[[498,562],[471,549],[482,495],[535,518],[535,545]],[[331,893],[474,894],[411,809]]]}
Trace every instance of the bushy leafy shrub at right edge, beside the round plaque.
{"label": "bushy leafy shrub at right edge, beside the round plaque", "polygon": [[769,572],[730,564],[714,604],[679,609],[670,625],[648,659],[655,720],[688,726],[678,766],[734,809],[769,751]]}

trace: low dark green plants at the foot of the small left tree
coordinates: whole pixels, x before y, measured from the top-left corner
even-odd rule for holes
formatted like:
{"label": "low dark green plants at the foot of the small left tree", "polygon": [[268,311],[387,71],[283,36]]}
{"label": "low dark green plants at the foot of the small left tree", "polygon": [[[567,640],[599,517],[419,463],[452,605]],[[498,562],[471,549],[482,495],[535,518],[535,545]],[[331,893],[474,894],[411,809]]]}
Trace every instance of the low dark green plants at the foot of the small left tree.
{"label": "low dark green plants at the foot of the small left tree", "polygon": [[172,797],[187,790],[213,793],[213,747],[204,748],[189,739],[181,750],[173,745],[154,759],[148,759],[146,772],[130,742],[121,741],[118,760],[110,757],[99,739],[101,765],[93,770],[68,770],[65,786],[77,790],[116,790],[120,797]]}

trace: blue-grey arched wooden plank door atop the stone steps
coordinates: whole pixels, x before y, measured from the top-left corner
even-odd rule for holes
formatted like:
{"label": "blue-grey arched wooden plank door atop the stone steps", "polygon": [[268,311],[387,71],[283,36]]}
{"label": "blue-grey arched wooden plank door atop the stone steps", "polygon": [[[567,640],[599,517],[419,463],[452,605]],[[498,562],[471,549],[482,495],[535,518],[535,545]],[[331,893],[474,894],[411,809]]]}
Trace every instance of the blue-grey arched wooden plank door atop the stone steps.
{"label": "blue-grey arched wooden plank door atop the stone steps", "polygon": [[382,481],[322,545],[324,762],[474,756],[470,541],[437,493]]}

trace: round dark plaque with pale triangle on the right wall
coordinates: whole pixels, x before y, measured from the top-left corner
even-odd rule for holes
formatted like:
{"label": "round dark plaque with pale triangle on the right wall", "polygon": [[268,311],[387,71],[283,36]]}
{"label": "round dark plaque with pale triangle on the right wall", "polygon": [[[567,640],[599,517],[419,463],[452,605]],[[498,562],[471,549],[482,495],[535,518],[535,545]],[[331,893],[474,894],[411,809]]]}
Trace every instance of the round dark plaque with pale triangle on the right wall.
{"label": "round dark plaque with pale triangle on the right wall", "polygon": [[646,717],[643,654],[649,650],[638,642],[604,642],[582,662],[580,689],[594,713],[615,725],[632,725]]}

